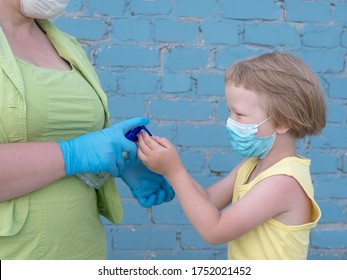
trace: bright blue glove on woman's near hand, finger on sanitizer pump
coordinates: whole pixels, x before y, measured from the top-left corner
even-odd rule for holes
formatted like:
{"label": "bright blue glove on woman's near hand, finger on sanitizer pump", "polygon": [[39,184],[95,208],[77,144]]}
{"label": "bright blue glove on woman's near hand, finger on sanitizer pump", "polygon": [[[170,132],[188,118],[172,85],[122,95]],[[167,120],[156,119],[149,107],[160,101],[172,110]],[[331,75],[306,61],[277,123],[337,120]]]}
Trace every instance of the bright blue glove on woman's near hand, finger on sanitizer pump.
{"label": "bright blue glove on woman's near hand, finger on sanitizer pump", "polygon": [[125,138],[124,134],[136,126],[148,123],[147,118],[133,118],[68,141],[58,142],[67,176],[104,171],[113,177],[119,176],[125,164],[122,152],[128,153],[129,160],[137,158],[135,143]]}

